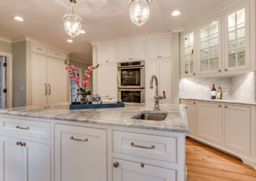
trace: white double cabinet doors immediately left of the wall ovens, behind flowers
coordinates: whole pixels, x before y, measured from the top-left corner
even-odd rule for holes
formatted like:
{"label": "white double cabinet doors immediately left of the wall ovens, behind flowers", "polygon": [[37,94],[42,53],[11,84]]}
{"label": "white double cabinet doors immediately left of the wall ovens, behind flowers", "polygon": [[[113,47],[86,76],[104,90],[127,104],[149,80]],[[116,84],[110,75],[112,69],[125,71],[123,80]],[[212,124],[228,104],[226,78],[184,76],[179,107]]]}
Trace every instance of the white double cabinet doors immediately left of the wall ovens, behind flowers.
{"label": "white double cabinet doors immediately left of the wall ovens, behind flowers", "polygon": [[98,69],[98,94],[102,98],[117,98],[116,64],[100,64]]}

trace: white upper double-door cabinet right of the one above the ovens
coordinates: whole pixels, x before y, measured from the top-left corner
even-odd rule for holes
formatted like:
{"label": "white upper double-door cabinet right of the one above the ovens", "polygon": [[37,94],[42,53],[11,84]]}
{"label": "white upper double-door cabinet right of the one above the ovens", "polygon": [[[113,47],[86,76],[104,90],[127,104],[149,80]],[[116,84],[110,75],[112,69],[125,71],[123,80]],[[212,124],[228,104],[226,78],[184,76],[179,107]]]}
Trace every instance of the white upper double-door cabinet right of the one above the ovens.
{"label": "white upper double-door cabinet right of the one above the ovens", "polygon": [[148,40],[148,59],[172,57],[172,40],[170,37]]}

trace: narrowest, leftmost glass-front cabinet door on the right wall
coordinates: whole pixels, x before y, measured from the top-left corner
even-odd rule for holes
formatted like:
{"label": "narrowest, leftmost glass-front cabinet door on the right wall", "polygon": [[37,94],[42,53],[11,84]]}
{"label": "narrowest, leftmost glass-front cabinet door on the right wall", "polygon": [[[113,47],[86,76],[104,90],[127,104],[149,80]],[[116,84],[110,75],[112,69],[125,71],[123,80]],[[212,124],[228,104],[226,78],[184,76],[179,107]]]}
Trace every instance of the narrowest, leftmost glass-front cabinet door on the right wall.
{"label": "narrowest, leftmost glass-front cabinet door on the right wall", "polygon": [[195,33],[184,34],[184,76],[195,75]]}

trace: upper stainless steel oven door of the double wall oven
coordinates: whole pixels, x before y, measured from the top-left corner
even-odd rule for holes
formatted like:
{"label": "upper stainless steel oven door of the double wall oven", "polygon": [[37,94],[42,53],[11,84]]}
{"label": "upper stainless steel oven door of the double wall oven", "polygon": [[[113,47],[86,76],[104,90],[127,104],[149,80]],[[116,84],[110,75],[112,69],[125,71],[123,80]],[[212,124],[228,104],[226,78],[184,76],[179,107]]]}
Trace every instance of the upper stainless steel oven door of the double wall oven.
{"label": "upper stainless steel oven door of the double wall oven", "polygon": [[118,68],[118,89],[145,88],[145,67]]}

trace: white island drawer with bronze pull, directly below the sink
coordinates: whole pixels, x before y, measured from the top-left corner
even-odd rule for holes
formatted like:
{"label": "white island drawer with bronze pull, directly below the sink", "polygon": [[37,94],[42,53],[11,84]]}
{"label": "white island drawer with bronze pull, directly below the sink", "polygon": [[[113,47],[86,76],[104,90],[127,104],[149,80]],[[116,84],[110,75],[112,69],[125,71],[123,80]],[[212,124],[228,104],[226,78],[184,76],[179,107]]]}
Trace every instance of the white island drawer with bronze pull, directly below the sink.
{"label": "white island drawer with bronze pull, directly below the sink", "polygon": [[114,152],[177,163],[177,138],[113,131]]}

